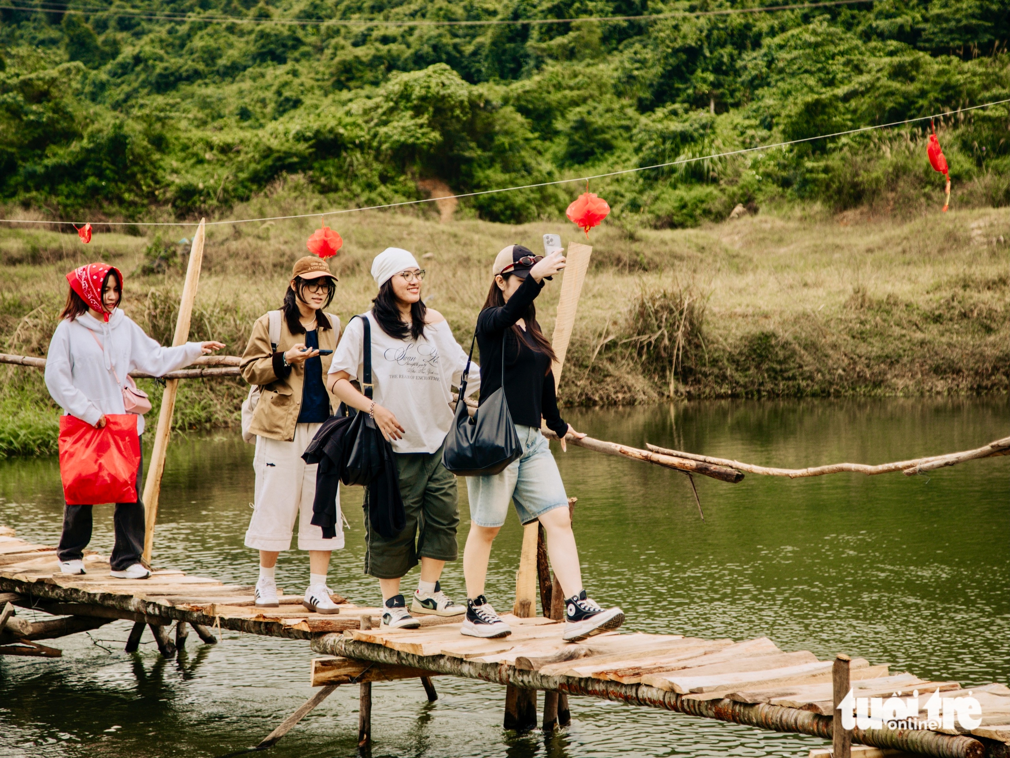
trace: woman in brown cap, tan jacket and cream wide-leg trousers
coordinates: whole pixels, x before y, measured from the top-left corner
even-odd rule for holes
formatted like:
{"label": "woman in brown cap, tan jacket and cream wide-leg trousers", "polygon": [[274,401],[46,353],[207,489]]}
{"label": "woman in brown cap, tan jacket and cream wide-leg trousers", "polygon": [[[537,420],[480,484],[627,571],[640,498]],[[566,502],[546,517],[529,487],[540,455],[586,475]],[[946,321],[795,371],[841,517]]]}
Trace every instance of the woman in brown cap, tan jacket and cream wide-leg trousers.
{"label": "woman in brown cap, tan jacket and cream wide-leg trousers", "polygon": [[[257,319],[242,355],[242,376],[262,389],[249,424],[257,436],[256,502],[245,533],[245,547],[260,551],[260,607],[279,605],[274,570],[280,552],[291,547],[297,516],[298,549],[309,551],[309,585],[302,604],[320,613],[338,611],[326,571],[330,551],[343,547],[343,533],[327,539],[311,524],[316,465],[301,457],[337,405],[323,383],[340,336],[340,319],[323,312],[336,281],[325,261],[299,259],[281,309]],[[336,507],[339,513],[339,502]]]}

